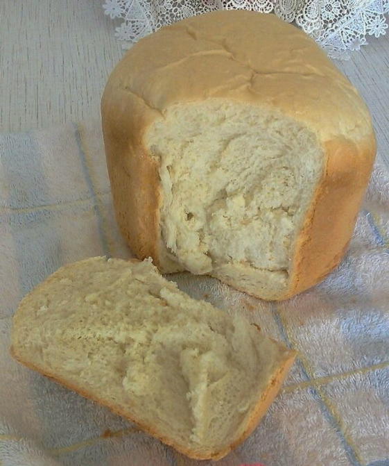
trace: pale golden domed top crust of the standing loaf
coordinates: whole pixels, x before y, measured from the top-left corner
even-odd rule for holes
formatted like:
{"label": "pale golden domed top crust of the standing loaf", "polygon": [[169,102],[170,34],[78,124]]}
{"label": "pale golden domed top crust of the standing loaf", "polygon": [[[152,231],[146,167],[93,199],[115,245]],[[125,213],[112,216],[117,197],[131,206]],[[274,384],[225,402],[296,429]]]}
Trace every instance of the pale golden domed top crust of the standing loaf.
{"label": "pale golden domed top crust of the standing loaf", "polygon": [[322,141],[371,133],[358,92],[308,35],[244,10],[184,19],[139,41],[110,76],[103,109],[137,101],[140,113],[128,119],[144,133],[169,106],[211,97],[277,108]]}

